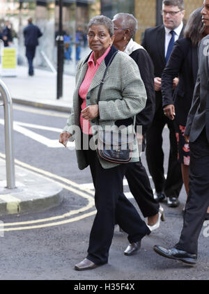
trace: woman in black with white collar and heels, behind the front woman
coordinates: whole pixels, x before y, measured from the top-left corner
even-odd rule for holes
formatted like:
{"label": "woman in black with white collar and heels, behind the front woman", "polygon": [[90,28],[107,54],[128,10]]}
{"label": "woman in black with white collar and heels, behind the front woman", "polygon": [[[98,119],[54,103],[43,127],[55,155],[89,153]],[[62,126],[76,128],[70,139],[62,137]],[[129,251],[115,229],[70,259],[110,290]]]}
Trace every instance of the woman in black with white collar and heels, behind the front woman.
{"label": "woman in black with white collar and heels, behind the front woman", "polygon": [[[154,88],[154,68],[153,61],[144,47],[134,42],[133,38],[137,32],[137,20],[129,13],[118,13],[114,15],[114,46],[128,54],[138,65],[141,79],[146,88],[146,107],[137,114],[137,125],[142,126],[143,137],[146,130],[153,121],[155,114],[155,88]],[[144,140],[144,138],[143,138]],[[145,141],[145,140],[144,140]],[[141,160],[134,162],[126,173],[127,183],[130,191],[137,201],[137,204],[144,217],[148,217],[150,231],[154,231],[160,226],[160,219],[164,220],[164,209],[154,199],[153,189],[150,180]],[[132,249],[131,252],[133,252]]]}

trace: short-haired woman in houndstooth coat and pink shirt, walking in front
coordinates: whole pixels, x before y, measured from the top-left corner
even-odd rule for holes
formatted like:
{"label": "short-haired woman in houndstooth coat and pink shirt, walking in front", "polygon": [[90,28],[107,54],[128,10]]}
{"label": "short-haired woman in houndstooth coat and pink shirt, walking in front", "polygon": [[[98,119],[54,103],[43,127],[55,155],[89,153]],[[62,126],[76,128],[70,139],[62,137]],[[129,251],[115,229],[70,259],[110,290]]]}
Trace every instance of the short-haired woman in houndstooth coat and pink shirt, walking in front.
{"label": "short-haired woman in houndstooth coat and pink shirt, walking in front", "polygon": [[[126,164],[103,160],[95,150],[98,141],[95,126],[104,130],[107,125],[123,125],[123,130],[128,130],[129,127],[132,128],[132,117],[146,105],[146,90],[137,64],[123,52],[117,52],[109,65],[98,102],[104,71],[111,56],[117,51],[112,46],[113,41],[113,22],[103,15],[93,17],[88,24],[88,46],[92,52],[79,62],[73,111],[59,140],[65,145],[70,137],[75,138],[79,169],[90,165],[95,187],[97,214],[91,229],[88,255],[75,265],[75,270],[90,270],[107,263],[116,223],[128,235],[130,245],[125,251],[127,255],[132,253],[133,248],[136,252],[141,239],[150,233],[146,223],[123,194],[125,171],[132,162],[139,161],[136,139],[132,161]],[[78,127],[82,130],[82,140],[77,132]],[[81,143],[86,145],[86,141],[89,148],[80,148],[80,145],[84,146]],[[94,148],[90,148],[92,141]]]}

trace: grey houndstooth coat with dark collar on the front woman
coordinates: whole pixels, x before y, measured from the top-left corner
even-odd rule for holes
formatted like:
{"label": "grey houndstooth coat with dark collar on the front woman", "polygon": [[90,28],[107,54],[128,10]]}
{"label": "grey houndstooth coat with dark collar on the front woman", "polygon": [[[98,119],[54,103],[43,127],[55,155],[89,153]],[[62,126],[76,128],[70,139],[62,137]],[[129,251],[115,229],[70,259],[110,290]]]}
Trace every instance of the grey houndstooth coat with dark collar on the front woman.
{"label": "grey houndstooth coat with dark collar on the front woman", "polygon": [[[102,81],[107,63],[109,62],[109,59],[111,59],[114,52],[116,52],[116,48],[112,46],[109,54],[107,54],[105,59],[100,64],[95,77],[93,77],[93,81],[91,82],[86,95],[86,107],[98,104],[97,101],[100,83]],[[77,67],[72,113],[68,118],[67,125],[63,129],[63,132],[67,131],[72,134],[70,141],[75,140],[79,169],[88,167],[88,162],[86,162],[84,153],[80,148],[80,134],[75,131],[75,126],[80,127],[79,116],[81,113],[82,102],[79,98],[79,87],[81,86],[86,75],[86,70],[88,69],[88,58],[89,55],[86,59],[80,61]],[[133,128],[128,122],[130,121],[130,118],[144,109],[145,105],[146,89],[144,87],[144,83],[142,82],[137,64],[127,54],[118,52],[111,62],[111,65],[109,65],[109,69],[107,70],[107,74],[104,79],[99,102],[100,116],[99,118],[91,121],[91,127],[100,125],[100,127],[104,129],[106,125],[114,127],[121,124],[127,125],[127,127],[123,129],[123,132],[131,133]],[[96,143],[97,132],[93,133],[93,139]],[[104,169],[109,169],[118,165],[113,162],[102,160],[100,157],[99,160]],[[135,140],[132,162],[137,161],[139,161],[139,151],[137,140]]]}

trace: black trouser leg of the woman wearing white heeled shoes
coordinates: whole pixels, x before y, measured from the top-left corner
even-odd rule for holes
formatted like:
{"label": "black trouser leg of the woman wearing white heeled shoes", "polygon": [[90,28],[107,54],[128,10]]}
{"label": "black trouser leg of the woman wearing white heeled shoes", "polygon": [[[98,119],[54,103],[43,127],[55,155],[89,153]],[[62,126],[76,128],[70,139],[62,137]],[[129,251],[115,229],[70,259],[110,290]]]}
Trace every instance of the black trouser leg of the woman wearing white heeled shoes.
{"label": "black trouser leg of the woman wearing white heeled shoes", "polygon": [[130,192],[132,192],[144,217],[157,215],[160,205],[154,199],[153,189],[150,186],[148,174],[141,160],[133,162],[127,167],[125,177],[127,178]]}

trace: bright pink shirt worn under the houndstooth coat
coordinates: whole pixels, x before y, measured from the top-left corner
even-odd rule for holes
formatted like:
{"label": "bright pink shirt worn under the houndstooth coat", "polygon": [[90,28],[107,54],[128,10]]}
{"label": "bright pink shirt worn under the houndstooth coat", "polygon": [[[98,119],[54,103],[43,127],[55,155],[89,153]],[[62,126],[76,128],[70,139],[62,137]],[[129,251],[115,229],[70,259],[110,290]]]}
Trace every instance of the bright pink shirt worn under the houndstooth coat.
{"label": "bright pink shirt worn under the houndstooth coat", "polygon": [[[82,110],[86,108],[86,95],[88,93],[88,88],[91,85],[91,82],[93,80],[93,77],[95,76],[95,73],[97,72],[100,64],[104,60],[104,58],[109,53],[111,47],[109,47],[106,52],[96,61],[96,64],[93,61],[93,52],[91,53],[89,59],[88,59],[88,70],[86,71],[86,75],[84,77],[84,81],[82,82],[80,88],[79,88],[79,96],[82,98]],[[82,132],[84,134],[92,134],[91,131],[91,124],[90,121],[87,121],[85,118],[82,118],[82,112],[80,114],[80,124],[82,127]]]}

